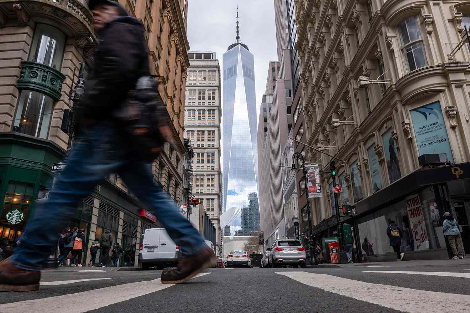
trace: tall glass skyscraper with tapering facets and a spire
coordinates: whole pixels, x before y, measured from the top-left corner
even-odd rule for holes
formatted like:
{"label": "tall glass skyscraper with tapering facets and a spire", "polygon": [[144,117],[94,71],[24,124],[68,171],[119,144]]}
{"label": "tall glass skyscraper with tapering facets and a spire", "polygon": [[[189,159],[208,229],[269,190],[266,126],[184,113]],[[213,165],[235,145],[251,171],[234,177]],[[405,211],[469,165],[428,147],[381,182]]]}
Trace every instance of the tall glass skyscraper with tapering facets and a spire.
{"label": "tall glass skyscraper with tapering facets and a spire", "polygon": [[[241,229],[240,211],[258,192],[257,119],[253,54],[237,36],[223,55],[224,208],[231,233]],[[222,220],[221,220],[222,224]],[[223,225],[221,225],[223,227]]]}

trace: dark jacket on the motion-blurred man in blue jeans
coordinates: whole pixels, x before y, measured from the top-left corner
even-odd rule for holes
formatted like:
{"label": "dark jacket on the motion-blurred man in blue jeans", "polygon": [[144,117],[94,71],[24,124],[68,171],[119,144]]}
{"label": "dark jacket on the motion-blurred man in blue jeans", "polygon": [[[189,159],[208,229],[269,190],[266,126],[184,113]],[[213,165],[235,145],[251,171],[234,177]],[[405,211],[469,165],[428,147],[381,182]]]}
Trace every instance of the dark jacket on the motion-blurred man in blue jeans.
{"label": "dark jacket on the motion-blurred man in blue jeans", "polygon": [[120,16],[99,33],[94,68],[89,69],[77,116],[78,128],[110,120],[140,76],[149,76],[144,29],[137,19]]}

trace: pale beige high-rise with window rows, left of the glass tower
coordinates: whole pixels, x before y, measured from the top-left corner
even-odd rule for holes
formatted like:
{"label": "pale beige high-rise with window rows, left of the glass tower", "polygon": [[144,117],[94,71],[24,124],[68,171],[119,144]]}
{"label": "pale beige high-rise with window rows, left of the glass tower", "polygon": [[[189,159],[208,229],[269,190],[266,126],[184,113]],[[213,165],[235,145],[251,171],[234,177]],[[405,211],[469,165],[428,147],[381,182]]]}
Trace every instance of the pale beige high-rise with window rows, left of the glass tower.
{"label": "pale beige high-rise with window rows, left of the glass tower", "polygon": [[184,137],[192,145],[192,191],[216,228],[220,255],[220,66],[214,52],[188,52]]}

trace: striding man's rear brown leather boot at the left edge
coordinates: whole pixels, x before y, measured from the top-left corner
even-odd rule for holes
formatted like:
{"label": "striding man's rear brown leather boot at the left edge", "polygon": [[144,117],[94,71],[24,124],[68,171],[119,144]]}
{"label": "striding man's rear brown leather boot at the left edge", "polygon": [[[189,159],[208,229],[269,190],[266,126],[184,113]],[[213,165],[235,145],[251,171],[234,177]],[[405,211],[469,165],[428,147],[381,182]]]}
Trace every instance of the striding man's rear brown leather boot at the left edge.
{"label": "striding man's rear brown leather boot at the left edge", "polygon": [[41,271],[15,267],[8,259],[0,262],[0,291],[39,290]]}

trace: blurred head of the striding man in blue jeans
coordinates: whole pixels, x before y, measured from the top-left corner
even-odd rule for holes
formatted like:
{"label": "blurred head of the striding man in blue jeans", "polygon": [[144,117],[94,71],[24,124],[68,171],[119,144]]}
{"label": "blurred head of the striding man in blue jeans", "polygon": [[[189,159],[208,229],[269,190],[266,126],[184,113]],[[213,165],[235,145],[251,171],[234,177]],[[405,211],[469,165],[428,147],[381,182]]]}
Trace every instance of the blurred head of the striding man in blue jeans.
{"label": "blurred head of the striding man in blue jeans", "polygon": [[99,32],[103,27],[119,16],[128,15],[125,8],[119,2],[111,0],[90,0],[88,7],[93,13],[93,25]]}

